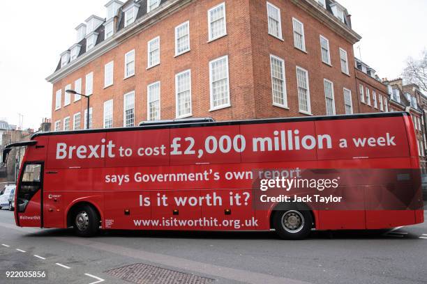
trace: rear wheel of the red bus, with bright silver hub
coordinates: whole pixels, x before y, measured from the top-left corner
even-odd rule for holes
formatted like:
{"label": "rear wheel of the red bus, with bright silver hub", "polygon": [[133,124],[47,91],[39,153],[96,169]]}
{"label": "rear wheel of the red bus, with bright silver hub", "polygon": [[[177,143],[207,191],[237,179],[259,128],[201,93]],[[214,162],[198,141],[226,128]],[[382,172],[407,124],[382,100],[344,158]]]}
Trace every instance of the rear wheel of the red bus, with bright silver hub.
{"label": "rear wheel of the red bus, with bright silver hub", "polygon": [[287,210],[274,214],[274,228],[282,239],[304,239],[310,235],[313,218],[309,211]]}

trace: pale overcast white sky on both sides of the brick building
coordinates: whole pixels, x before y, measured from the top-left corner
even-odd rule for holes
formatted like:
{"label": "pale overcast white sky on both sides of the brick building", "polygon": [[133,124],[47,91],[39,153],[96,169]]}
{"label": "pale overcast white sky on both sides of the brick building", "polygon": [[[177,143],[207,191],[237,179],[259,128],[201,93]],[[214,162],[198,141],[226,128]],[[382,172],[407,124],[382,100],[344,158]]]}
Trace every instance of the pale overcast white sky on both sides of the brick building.
{"label": "pale overcast white sky on both sides of the brick building", "polygon": [[[339,0],[362,36],[354,54],[381,78],[400,77],[409,56],[427,48],[426,0]],[[59,54],[75,43],[75,26],[90,15],[105,17],[107,0],[22,0],[2,3],[0,26],[0,119],[38,129],[50,118],[52,84],[45,78]],[[15,22],[17,21],[17,22]],[[6,27],[6,28],[5,28]],[[357,47],[360,47],[360,52]]]}

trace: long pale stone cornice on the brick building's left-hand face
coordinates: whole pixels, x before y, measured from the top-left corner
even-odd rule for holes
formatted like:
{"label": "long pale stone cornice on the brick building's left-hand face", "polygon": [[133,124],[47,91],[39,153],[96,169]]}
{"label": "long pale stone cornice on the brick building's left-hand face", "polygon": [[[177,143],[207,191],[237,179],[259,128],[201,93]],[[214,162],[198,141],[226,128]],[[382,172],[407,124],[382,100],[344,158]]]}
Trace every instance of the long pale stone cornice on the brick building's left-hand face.
{"label": "long pale stone cornice on the brick building's left-hand face", "polygon": [[191,1],[193,0],[172,0],[163,3],[162,6],[158,7],[158,10],[136,19],[133,24],[130,24],[129,26],[126,26],[126,28],[121,29],[111,38],[100,42],[99,45],[93,47],[93,49],[91,49],[89,52],[86,52],[85,54],[82,54],[82,56],[79,56],[77,59],[75,59],[73,63],[68,63],[68,65],[50,74],[50,76],[46,78],[46,81],[52,84],[56,83],[76,70],[79,70],[84,65],[94,61],[96,58],[106,54],[107,52],[110,52],[110,50],[119,46],[121,42],[131,38],[132,36],[135,36],[135,34],[140,33],[140,31],[148,29],[150,26],[153,26],[153,24],[160,22],[163,18],[171,15],[183,6],[186,6]]}

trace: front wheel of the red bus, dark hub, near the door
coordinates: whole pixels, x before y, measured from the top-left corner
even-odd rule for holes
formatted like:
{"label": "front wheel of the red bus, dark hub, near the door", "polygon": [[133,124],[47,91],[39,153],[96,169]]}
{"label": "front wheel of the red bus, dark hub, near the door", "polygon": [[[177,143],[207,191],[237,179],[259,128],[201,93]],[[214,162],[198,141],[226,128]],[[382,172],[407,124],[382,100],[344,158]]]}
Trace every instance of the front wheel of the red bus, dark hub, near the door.
{"label": "front wheel of the red bus, dark hub, near the door", "polygon": [[83,205],[75,210],[73,219],[74,230],[80,237],[91,237],[96,235],[99,229],[99,218],[93,207]]}

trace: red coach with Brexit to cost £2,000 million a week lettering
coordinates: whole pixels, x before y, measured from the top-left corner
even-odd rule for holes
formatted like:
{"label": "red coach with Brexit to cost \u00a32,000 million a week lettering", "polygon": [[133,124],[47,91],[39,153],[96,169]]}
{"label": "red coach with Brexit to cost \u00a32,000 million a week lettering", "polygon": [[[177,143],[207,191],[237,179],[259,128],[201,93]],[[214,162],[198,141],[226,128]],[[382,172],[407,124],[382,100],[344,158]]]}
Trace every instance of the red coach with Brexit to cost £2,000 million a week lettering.
{"label": "red coach with Brexit to cost \u00a32,000 million a week lettering", "polygon": [[[15,194],[15,221],[21,227],[74,227],[80,236],[99,229],[275,229],[280,237],[300,239],[311,230],[424,222],[419,188],[398,189],[415,203],[404,210],[319,210],[304,200],[299,206],[292,200],[285,207],[281,202],[260,206],[260,194],[253,191],[254,180],[271,178],[274,169],[291,169],[286,172],[291,176],[300,168],[419,169],[407,113],[45,132],[8,145],[3,161],[20,146],[27,147]],[[375,203],[369,180],[359,183],[362,206]]]}

